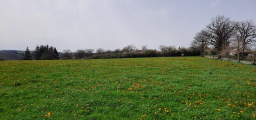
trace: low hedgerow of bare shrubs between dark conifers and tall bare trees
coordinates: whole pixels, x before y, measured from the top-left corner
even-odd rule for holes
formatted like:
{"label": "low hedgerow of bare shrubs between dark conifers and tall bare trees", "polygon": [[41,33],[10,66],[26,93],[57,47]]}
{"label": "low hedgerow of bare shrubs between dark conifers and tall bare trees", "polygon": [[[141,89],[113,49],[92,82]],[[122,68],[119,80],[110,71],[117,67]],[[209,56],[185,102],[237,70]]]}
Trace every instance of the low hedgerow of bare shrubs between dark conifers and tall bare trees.
{"label": "low hedgerow of bare shrubs between dark conifers and tall bare trees", "polygon": [[104,59],[104,58],[132,58],[132,57],[174,57],[174,56],[199,56],[200,51],[191,47],[184,48],[175,46],[160,45],[161,51],[148,49],[147,45],[138,50],[134,44],[125,46],[123,49],[115,49],[114,51],[96,49],[78,49],[71,52],[69,49],[63,50],[60,59]]}

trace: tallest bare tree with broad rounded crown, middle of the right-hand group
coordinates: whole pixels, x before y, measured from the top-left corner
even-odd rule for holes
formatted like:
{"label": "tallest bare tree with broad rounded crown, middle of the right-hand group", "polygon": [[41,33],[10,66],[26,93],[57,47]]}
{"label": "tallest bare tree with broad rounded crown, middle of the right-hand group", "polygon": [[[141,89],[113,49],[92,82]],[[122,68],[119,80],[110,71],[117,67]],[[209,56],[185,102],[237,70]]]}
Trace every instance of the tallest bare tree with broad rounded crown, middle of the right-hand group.
{"label": "tallest bare tree with broad rounded crown, middle of the right-hand group", "polygon": [[[231,43],[231,37],[235,32],[234,22],[225,16],[217,16],[206,26],[209,37],[209,44],[216,47],[218,52]],[[219,57],[220,59],[221,57]]]}

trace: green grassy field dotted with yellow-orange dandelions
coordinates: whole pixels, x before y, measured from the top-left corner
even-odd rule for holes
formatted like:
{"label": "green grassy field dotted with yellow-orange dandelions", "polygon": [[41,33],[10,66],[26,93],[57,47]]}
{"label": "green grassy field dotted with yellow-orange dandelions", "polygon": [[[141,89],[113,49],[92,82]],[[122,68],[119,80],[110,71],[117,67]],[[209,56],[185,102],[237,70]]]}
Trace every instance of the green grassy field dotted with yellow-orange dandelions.
{"label": "green grassy field dotted with yellow-orange dandelions", "polygon": [[256,119],[256,66],[204,57],[0,61],[3,119]]}

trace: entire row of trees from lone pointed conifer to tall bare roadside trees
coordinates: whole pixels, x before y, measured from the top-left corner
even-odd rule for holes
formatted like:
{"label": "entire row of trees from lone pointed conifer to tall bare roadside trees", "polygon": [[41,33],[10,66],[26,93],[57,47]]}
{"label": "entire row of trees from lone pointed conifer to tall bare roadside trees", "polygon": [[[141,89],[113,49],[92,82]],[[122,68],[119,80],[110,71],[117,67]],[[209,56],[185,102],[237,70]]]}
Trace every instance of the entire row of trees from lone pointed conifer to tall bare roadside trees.
{"label": "entire row of trees from lone pointed conifer to tall bare roadside trees", "polygon": [[[159,50],[148,49],[147,45],[138,50],[134,44],[114,51],[102,48],[78,49],[74,52],[65,49],[58,52],[55,47],[48,45],[36,46],[33,53],[28,47],[24,60],[53,60],[53,59],[99,59],[99,58],[130,58],[130,57],[175,57],[175,56],[204,56],[218,55],[218,58],[229,57],[230,51],[236,50],[239,56],[250,50],[254,55],[256,46],[256,25],[253,20],[235,22],[226,16],[216,16],[200,32],[195,34],[189,48],[160,45]],[[248,52],[248,51],[247,51]]]}

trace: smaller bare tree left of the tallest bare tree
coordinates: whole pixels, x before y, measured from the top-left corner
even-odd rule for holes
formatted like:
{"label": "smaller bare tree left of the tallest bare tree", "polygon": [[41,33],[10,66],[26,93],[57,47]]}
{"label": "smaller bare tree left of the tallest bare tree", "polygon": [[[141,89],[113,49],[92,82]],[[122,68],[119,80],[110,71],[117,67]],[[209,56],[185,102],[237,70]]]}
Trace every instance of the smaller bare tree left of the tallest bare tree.
{"label": "smaller bare tree left of the tallest bare tree", "polygon": [[191,45],[193,48],[199,49],[201,51],[201,56],[203,57],[204,50],[207,48],[209,38],[207,37],[207,31],[202,30],[195,34],[194,40]]}

